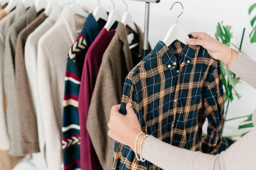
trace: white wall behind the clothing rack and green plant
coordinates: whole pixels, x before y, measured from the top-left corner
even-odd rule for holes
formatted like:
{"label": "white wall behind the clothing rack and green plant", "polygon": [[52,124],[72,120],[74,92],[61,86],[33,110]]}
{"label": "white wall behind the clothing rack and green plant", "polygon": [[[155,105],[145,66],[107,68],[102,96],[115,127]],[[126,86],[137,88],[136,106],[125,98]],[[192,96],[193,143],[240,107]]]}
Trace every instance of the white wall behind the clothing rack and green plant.
{"label": "white wall behind the clothing rack and green plant", "polygon": [[[123,15],[126,11],[126,5],[123,0],[113,1],[116,9],[120,11],[120,15]],[[97,0],[75,0],[75,2],[92,9],[98,6]],[[113,9],[111,0],[100,0],[100,2],[101,6],[107,11]],[[181,13],[180,4],[175,4],[173,9],[169,10],[174,2],[176,1],[160,0],[157,4],[150,3],[149,42],[153,47],[159,40],[164,39],[170,26],[175,24],[176,16]],[[180,16],[178,23],[184,26],[187,33],[201,31],[214,37],[217,23],[223,21],[224,25],[232,26],[231,32],[234,38],[231,39],[231,42],[239,46],[243,28],[245,27],[242,51],[256,60],[256,43],[251,44],[249,42],[249,33],[252,31],[250,19],[256,15],[256,9],[251,16],[248,13],[249,7],[256,3],[256,0],[180,0],[180,2],[184,6],[184,12]],[[134,22],[144,31],[145,2],[126,0],[126,3]],[[238,84],[236,89],[242,95],[242,98],[239,101],[234,99],[230,104],[227,118],[248,115],[256,107],[256,90],[245,82]],[[234,129],[238,127],[237,123],[237,121],[227,122],[225,128],[227,130],[224,131],[225,135],[234,134]],[[231,128],[231,131],[229,128]]]}

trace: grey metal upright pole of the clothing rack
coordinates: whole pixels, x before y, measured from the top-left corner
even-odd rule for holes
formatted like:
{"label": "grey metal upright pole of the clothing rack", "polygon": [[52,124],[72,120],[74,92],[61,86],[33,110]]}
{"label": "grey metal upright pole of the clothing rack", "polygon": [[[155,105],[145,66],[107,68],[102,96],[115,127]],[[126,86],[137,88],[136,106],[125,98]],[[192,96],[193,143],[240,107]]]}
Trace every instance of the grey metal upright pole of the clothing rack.
{"label": "grey metal upright pole of the clothing rack", "polygon": [[143,1],[146,2],[145,5],[145,21],[144,21],[144,45],[143,45],[143,51],[142,51],[142,57],[146,57],[148,55],[148,24],[149,24],[149,3],[154,2],[158,3],[160,0],[136,0],[136,1]]}

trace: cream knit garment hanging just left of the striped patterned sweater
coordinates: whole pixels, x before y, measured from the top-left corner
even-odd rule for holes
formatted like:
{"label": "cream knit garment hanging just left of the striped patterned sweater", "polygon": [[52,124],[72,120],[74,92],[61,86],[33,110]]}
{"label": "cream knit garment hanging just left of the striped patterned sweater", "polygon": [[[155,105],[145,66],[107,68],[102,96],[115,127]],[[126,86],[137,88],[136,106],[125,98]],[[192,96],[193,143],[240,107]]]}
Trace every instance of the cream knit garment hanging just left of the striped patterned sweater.
{"label": "cream knit garment hanging just left of the striped patterned sweater", "polygon": [[61,169],[61,127],[67,53],[76,40],[76,30],[83,28],[85,19],[73,15],[69,5],[66,5],[60,18],[38,42],[38,91],[49,170]]}

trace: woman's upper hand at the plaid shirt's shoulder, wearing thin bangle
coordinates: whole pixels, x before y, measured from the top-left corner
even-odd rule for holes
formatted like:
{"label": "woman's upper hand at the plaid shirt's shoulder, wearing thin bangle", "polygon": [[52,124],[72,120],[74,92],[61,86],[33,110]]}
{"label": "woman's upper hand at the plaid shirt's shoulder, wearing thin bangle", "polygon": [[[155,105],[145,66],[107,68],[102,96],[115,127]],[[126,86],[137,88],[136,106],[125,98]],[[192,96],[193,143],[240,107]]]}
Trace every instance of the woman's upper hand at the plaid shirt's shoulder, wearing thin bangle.
{"label": "woman's upper hand at the plaid shirt's shoulder, wearing thin bangle", "polygon": [[[186,43],[189,45],[200,45],[207,50],[209,55],[216,60],[220,60],[224,64],[227,63],[229,58],[229,47],[225,44],[215,40],[207,33],[190,33],[193,35],[194,39],[186,39]],[[228,67],[231,67],[236,60],[238,51],[231,49],[231,56],[229,60]]]}

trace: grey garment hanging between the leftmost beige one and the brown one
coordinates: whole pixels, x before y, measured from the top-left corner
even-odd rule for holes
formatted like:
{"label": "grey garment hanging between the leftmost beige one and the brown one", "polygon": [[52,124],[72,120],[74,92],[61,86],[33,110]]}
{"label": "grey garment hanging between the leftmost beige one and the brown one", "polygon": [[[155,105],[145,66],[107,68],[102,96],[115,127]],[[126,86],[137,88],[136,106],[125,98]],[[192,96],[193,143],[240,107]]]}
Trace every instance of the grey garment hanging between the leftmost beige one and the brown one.
{"label": "grey garment hanging between the leftmost beige one and the brown one", "polygon": [[30,22],[37,17],[34,6],[30,7],[26,13],[9,26],[4,47],[4,90],[7,96],[7,127],[10,135],[11,148],[9,154],[12,156],[22,156],[20,146],[20,131],[17,110],[17,96],[15,89],[15,49],[18,34]]}

